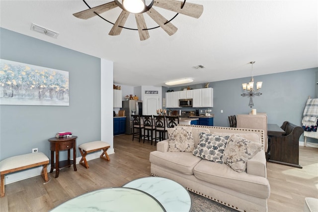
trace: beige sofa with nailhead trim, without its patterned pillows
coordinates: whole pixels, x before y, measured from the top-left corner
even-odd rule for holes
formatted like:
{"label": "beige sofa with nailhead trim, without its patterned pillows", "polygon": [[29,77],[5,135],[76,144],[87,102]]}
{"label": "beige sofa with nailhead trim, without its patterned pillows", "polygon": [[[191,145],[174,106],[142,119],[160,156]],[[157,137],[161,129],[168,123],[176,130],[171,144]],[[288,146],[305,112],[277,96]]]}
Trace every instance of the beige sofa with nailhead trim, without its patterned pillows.
{"label": "beige sofa with nailhead trim, without its patterned pillows", "polygon": [[[258,129],[217,126],[191,126],[195,146],[199,133],[239,136],[264,146],[264,131]],[[157,151],[150,153],[151,175],[165,177],[187,190],[241,212],[267,211],[270,186],[266,178],[265,152],[261,150],[247,162],[245,172],[236,172],[225,163],[201,159],[192,152],[169,152],[168,140],[158,142]]]}

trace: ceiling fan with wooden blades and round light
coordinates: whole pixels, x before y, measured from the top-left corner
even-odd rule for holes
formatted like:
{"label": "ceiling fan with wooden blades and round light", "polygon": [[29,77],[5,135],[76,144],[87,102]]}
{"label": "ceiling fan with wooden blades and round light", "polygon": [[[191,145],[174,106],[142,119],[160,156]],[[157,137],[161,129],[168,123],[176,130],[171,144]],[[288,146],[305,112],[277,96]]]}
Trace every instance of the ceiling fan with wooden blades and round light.
{"label": "ceiling fan with wooden blades and round light", "polygon": [[144,13],[147,13],[168,35],[173,35],[178,29],[170,22],[175,16],[168,21],[154,8],[154,6],[177,12],[177,14],[180,13],[195,18],[199,18],[203,12],[203,5],[188,3],[186,0],[151,0],[148,5],[146,4],[145,0],[114,0],[74,13],[73,15],[81,19],[88,19],[96,15],[99,16],[99,14],[116,8],[117,6],[119,6],[123,11],[120,13],[108,34],[119,35],[122,29],[126,28],[124,25],[129,14],[133,13],[135,14],[140,40],[146,40],[150,37],[148,32],[149,29],[147,29],[144,18]]}

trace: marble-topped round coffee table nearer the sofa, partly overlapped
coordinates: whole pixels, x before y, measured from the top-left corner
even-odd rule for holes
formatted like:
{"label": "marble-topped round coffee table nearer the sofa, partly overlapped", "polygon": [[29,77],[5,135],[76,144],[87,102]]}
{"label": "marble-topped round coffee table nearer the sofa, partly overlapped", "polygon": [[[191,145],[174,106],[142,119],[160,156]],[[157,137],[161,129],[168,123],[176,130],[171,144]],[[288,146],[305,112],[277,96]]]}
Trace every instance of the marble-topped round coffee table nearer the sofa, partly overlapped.
{"label": "marble-topped round coffee table nearer the sofa, partly overlapped", "polygon": [[156,198],[167,212],[189,212],[192,200],[183,186],[162,177],[144,177],[126,183],[122,187],[144,191]]}

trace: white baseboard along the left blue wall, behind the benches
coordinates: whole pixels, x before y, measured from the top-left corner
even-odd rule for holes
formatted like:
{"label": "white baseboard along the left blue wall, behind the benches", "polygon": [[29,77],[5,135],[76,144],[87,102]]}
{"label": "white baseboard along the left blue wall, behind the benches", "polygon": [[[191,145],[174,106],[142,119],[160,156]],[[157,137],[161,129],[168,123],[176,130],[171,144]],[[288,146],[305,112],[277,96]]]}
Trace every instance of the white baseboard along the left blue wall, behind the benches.
{"label": "white baseboard along the left blue wall, behind the benches", "polygon": [[[86,160],[89,161],[89,160],[99,158],[101,153],[102,153],[102,150],[100,150],[98,152],[91,153],[91,154],[87,154]],[[114,153],[115,152],[114,152],[113,148],[109,148],[107,150],[108,155],[114,154]],[[76,164],[79,164],[80,159],[81,159],[81,156],[76,158]],[[48,169],[48,172],[51,170],[51,164],[48,165],[47,169]],[[4,176],[4,185],[41,175],[41,171],[42,171],[42,166],[38,166],[35,168],[30,168],[30,169],[22,170],[19,172],[13,172],[10,174],[6,174]],[[43,183],[44,183],[44,181],[43,181]]]}

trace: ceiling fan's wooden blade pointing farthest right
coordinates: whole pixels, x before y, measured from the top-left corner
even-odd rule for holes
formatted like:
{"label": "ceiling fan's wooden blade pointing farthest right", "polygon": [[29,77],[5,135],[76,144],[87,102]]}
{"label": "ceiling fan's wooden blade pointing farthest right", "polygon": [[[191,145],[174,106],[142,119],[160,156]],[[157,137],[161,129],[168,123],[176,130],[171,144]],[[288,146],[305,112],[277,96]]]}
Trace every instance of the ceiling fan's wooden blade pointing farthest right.
{"label": "ceiling fan's wooden blade pointing farthest right", "polygon": [[155,0],[154,6],[161,7],[163,9],[178,12],[180,14],[188,15],[191,17],[199,18],[203,12],[203,5],[196,3],[186,2],[181,9],[183,1],[178,0]]}

